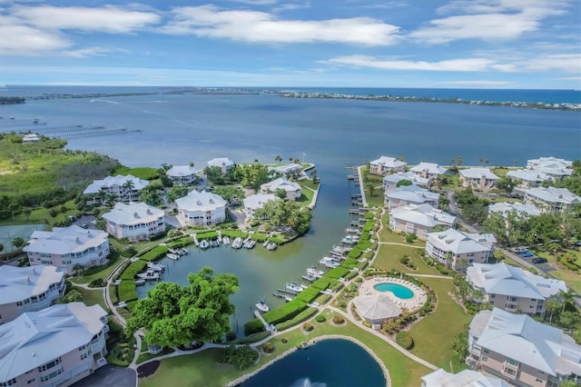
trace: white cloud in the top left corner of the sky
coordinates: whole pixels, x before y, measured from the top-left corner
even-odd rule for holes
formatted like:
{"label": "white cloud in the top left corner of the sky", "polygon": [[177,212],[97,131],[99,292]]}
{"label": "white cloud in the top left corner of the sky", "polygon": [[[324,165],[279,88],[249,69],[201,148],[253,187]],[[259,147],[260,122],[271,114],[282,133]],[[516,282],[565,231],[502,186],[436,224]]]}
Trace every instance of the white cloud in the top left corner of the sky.
{"label": "white cloud in the top left corner of the sky", "polygon": [[127,10],[116,6],[100,8],[14,6],[11,14],[20,18],[23,23],[40,29],[96,31],[111,34],[130,33],[160,21],[160,16],[151,12]]}

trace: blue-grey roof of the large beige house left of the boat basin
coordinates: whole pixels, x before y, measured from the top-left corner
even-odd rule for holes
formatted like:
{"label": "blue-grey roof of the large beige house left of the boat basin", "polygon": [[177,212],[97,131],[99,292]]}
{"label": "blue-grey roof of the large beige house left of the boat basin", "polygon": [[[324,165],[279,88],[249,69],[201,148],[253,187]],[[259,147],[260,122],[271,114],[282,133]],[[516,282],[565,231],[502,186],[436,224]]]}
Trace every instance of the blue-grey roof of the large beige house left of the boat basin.
{"label": "blue-grey roof of the large beige house left of the boat basin", "polygon": [[66,254],[81,253],[89,247],[97,247],[107,241],[107,233],[101,230],[85,230],[78,225],[54,227],[53,231],[35,231],[30,236],[25,252]]}

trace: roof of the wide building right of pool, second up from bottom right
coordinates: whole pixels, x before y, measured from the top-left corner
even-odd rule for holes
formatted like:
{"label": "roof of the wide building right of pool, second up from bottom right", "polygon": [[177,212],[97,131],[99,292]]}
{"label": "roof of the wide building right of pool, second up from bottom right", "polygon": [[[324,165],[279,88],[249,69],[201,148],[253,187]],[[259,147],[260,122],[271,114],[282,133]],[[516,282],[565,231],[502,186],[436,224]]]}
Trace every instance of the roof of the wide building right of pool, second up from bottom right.
{"label": "roof of the wide building right of pool, second up from bottom right", "polygon": [[503,294],[545,300],[559,291],[566,292],[563,281],[543,278],[506,263],[472,263],[468,281],[488,294]]}

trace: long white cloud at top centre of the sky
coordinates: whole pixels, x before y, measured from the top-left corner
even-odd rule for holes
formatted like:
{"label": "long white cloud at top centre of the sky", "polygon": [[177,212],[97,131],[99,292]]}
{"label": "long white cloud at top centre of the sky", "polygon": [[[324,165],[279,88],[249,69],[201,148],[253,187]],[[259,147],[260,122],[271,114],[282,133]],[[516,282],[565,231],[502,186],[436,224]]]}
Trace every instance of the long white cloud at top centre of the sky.
{"label": "long white cloud at top centre of the sky", "polygon": [[369,17],[328,20],[280,20],[249,10],[221,10],[213,5],[181,7],[162,28],[166,34],[196,35],[248,43],[342,43],[392,45],[399,27]]}

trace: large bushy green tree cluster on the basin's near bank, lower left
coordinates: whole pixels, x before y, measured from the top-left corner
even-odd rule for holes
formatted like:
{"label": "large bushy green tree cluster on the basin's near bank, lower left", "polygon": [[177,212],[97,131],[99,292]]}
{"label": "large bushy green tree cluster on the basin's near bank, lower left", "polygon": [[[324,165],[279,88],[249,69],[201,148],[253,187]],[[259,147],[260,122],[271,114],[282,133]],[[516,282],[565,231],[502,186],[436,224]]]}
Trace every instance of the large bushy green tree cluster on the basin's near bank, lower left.
{"label": "large bushy green tree cluster on the basin's near bank, lower left", "polygon": [[231,330],[234,305],[231,294],[238,290],[238,278],[203,267],[188,275],[188,286],[160,283],[139,300],[127,320],[126,335],[145,329],[146,342],[175,347],[193,341],[210,342]]}

